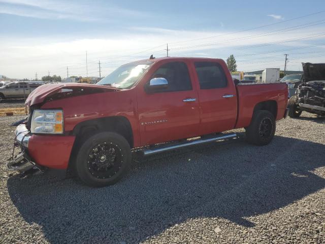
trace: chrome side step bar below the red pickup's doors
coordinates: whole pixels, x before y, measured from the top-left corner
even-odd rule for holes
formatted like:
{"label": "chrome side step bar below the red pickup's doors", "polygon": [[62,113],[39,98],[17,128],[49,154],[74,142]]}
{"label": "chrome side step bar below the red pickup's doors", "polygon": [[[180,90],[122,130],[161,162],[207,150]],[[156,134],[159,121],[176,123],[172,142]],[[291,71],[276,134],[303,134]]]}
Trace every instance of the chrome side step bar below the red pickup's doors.
{"label": "chrome side step bar below the red pickup's doors", "polygon": [[234,138],[236,137],[236,133],[229,133],[229,134],[223,134],[222,136],[216,136],[216,137],[210,137],[207,139],[197,139],[197,140],[192,140],[192,141],[186,141],[185,143],[182,144],[177,144],[177,145],[171,145],[171,146],[163,146],[163,147],[157,147],[153,149],[144,149],[143,154],[144,156],[152,155],[152,154],[157,154],[161,153],[162,151],[169,151],[169,150],[174,150],[177,148],[185,147],[185,146],[191,146],[191,145],[197,145],[197,144],[202,144],[206,142],[211,142],[211,141],[219,141],[223,139],[229,139],[229,138]]}

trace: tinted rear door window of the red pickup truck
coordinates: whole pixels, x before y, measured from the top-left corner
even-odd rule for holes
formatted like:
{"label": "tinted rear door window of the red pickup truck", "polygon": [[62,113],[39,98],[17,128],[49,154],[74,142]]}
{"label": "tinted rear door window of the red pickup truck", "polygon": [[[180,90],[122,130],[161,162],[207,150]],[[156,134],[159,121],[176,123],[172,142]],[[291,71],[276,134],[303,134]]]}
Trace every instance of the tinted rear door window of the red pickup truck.
{"label": "tinted rear door window of the red pickup truck", "polygon": [[219,64],[213,62],[196,62],[194,65],[201,89],[214,89],[227,86],[226,76]]}

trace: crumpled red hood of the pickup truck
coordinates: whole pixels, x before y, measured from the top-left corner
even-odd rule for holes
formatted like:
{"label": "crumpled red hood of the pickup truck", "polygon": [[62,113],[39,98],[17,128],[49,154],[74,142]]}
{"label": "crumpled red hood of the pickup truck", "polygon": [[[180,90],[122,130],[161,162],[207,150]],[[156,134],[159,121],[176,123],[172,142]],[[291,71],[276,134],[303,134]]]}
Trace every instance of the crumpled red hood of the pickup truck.
{"label": "crumpled red hood of the pickup truck", "polygon": [[[46,98],[64,92],[69,92],[73,95],[74,89],[79,91],[78,95],[114,92],[118,90],[112,86],[95,85],[86,83],[56,83],[56,84],[44,84],[33,90],[26,99],[25,105],[31,106],[34,104],[42,103]],[[80,93],[82,91],[82,93]],[[62,97],[63,98],[63,97]]]}

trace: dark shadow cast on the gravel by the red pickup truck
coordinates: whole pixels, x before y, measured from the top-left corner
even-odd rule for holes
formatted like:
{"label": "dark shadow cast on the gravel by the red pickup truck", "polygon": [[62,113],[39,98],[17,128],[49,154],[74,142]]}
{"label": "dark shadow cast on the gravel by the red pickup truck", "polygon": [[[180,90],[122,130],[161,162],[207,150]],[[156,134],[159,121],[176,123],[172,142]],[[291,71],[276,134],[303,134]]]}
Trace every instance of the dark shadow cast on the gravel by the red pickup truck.
{"label": "dark shadow cast on the gravel by the red pickup truck", "polygon": [[[242,139],[142,159],[118,184],[93,189],[45,174],[8,179],[10,197],[52,243],[134,243],[190,218],[246,217],[284,207],[325,187],[325,145],[276,136],[257,147]],[[215,226],[211,226],[213,230]]]}

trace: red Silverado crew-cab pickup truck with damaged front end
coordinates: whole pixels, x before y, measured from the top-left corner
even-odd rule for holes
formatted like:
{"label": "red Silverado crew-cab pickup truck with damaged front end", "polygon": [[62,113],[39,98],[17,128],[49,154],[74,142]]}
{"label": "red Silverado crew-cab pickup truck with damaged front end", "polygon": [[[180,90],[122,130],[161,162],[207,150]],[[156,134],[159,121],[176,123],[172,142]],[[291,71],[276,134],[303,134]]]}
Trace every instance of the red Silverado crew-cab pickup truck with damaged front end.
{"label": "red Silverado crew-cab pickup truck with damaged front end", "polygon": [[[268,144],[286,117],[285,83],[236,84],[222,59],[165,57],[123,65],[97,84],[46,84],[27,100],[11,170],[72,169],[85,184],[114,184],[144,155],[236,137]],[[194,138],[194,139],[190,139]]]}

